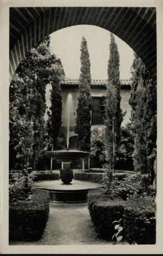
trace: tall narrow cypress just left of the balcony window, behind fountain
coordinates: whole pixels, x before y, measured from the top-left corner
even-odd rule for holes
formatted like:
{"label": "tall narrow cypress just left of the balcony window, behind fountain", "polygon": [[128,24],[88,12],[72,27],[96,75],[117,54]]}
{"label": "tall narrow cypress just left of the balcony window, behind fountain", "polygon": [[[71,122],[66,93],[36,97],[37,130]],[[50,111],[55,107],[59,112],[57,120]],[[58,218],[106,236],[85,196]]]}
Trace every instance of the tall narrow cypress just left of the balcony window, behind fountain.
{"label": "tall narrow cypress just left of the balcony window, behind fountain", "polygon": [[77,105],[77,118],[75,133],[77,136],[77,147],[82,151],[90,151],[91,143],[91,109],[92,98],[90,93],[91,74],[90,58],[87,41],[83,37],[81,44],[81,68],[79,77],[79,97]]}

